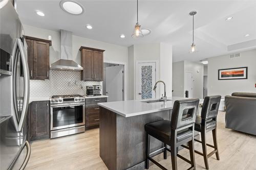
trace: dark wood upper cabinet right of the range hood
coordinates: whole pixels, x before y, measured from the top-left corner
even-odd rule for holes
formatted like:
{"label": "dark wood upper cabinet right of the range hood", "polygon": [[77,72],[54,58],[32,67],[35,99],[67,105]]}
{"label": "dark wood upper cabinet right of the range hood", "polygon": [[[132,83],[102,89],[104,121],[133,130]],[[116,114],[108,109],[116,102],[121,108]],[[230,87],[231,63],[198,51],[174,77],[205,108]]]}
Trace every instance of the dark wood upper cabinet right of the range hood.
{"label": "dark wood upper cabinet right of the range hood", "polygon": [[103,81],[103,52],[96,48],[81,46],[82,81]]}

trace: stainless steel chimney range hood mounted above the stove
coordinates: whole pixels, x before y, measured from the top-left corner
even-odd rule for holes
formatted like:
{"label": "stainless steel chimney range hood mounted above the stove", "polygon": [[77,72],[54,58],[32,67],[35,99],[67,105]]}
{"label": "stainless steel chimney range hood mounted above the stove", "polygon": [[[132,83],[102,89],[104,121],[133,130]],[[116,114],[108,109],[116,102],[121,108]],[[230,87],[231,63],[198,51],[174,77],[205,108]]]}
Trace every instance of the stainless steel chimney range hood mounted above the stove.
{"label": "stainless steel chimney range hood mounted above the stove", "polygon": [[80,71],[82,66],[77,64],[72,57],[72,32],[60,30],[60,60],[51,64],[50,69]]}

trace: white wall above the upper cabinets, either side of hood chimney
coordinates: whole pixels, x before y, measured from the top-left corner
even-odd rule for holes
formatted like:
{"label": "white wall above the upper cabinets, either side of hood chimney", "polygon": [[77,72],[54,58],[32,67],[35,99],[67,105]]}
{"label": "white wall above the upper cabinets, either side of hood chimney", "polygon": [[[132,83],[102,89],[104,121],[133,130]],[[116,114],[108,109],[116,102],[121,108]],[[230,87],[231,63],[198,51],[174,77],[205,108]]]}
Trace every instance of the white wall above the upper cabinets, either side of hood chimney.
{"label": "white wall above the upper cabinets, either side of hood chimney", "polygon": [[[60,59],[60,32],[41,29],[24,25],[25,35],[48,39],[48,36],[52,36],[52,46],[50,47],[50,64]],[[80,63],[80,46],[88,46],[92,48],[99,48],[105,50],[105,61],[120,61],[128,63],[128,48],[125,46],[110,44],[102,41],[96,41],[88,38],[78,37],[73,35],[73,58],[74,61]]]}

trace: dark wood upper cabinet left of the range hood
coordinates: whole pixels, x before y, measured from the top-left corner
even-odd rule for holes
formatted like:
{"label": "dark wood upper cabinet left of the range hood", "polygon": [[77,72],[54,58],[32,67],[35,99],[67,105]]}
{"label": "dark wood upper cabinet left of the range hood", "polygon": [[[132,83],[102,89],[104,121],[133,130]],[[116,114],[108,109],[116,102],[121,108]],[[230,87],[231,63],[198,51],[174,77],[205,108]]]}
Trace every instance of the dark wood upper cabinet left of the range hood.
{"label": "dark wood upper cabinet left of the range hood", "polygon": [[49,46],[52,41],[25,36],[28,45],[30,79],[49,79]]}

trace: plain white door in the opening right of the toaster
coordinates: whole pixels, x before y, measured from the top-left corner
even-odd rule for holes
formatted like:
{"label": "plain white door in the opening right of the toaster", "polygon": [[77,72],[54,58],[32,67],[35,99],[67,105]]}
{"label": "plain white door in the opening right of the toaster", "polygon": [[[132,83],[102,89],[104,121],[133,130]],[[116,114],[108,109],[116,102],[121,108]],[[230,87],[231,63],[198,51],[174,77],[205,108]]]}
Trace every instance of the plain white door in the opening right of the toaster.
{"label": "plain white door in the opening right of the toaster", "polygon": [[106,67],[108,102],[123,101],[123,65]]}

